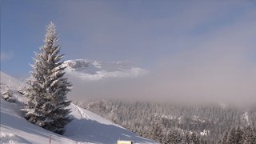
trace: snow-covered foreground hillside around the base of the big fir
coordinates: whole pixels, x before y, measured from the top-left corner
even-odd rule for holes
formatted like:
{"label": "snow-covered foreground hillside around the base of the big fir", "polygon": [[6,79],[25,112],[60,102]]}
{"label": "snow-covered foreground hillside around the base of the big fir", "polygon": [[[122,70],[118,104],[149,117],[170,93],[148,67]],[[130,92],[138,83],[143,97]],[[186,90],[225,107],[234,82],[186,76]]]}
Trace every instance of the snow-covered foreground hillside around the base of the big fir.
{"label": "snow-covered foreground hillside around the base of the big fir", "polygon": [[[19,101],[25,98],[15,90],[22,82],[1,72],[1,83],[10,84],[14,97]],[[133,140],[134,143],[155,143],[110,122],[97,114],[70,105],[73,121],[66,127],[64,135],[54,134],[27,122],[22,116],[21,102],[10,103],[1,98],[1,143],[116,143],[117,140]]]}

